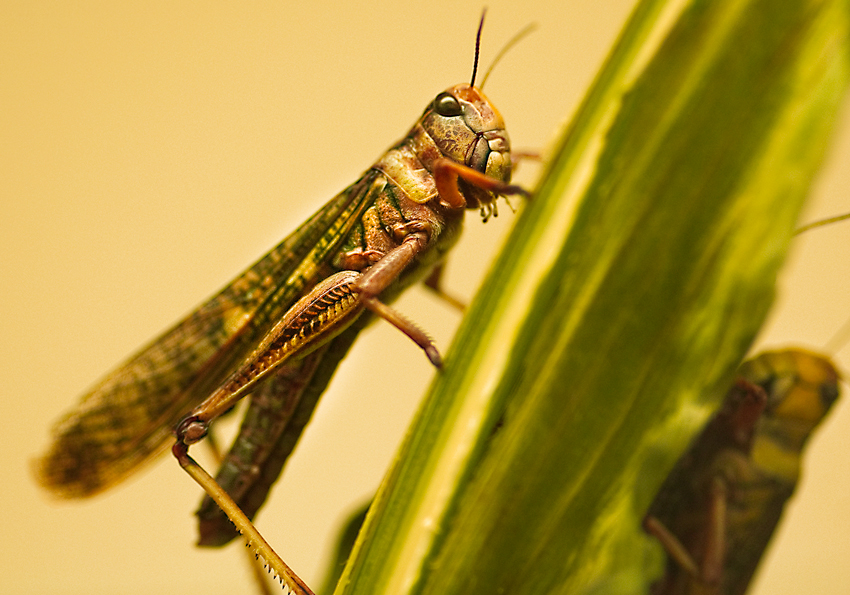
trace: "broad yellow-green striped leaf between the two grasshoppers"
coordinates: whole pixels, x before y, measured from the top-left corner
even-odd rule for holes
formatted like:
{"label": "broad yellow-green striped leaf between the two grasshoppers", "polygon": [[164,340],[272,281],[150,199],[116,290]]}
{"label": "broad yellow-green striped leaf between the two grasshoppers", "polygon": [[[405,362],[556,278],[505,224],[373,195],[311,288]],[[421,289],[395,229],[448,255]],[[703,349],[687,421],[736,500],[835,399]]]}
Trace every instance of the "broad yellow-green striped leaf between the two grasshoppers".
{"label": "broad yellow-green striped leaf between the two grasshoppers", "polygon": [[771,304],[847,83],[848,12],[640,3],[337,592],[645,592],[643,511]]}

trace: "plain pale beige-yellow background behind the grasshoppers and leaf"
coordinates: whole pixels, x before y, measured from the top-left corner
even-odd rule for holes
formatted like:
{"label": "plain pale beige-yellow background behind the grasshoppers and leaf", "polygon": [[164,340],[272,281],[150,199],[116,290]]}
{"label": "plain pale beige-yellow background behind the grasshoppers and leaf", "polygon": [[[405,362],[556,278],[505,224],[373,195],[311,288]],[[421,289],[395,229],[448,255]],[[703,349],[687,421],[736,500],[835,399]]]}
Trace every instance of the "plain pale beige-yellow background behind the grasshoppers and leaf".
{"label": "plain pale beige-yellow background behind the grasshoppers and leaf", "polygon": [[[436,92],[468,79],[481,5],[68,4],[7,1],[0,17],[2,590],[249,592],[238,548],[192,546],[198,489],[171,461],[79,503],[51,501],[29,461],[78,394],[352,181]],[[540,24],[487,84],[514,146],[540,148],[632,2],[525,4],[489,2],[482,62]],[[807,220],[850,210],[848,115]],[[470,218],[448,279],[456,292],[473,292],[510,222],[503,211],[486,226]],[[823,348],[850,317],[848,239],[850,223],[796,241],[761,345]],[[448,346],[456,313],[419,289],[399,308]],[[260,517],[314,585],[433,374],[387,325],[359,343]],[[837,357],[850,369],[850,349]],[[845,397],[812,444],[759,593],[847,592],[848,427]]]}

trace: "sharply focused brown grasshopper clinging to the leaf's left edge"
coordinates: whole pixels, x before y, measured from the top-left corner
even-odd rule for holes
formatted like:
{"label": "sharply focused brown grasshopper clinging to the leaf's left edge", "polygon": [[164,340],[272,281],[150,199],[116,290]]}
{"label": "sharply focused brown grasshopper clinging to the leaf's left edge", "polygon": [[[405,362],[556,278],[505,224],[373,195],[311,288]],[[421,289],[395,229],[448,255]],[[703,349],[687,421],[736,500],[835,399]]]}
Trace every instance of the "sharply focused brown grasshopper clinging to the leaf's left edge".
{"label": "sharply focused brown grasshopper clinging to the leaf's left edge", "polygon": [[[252,517],[370,318],[361,315],[365,310],[440,365],[430,339],[381,299],[442,260],[464,209],[480,209],[486,220],[499,195],[525,194],[508,184],[502,117],[475,87],[480,35],[481,26],[470,84],[439,93],[359,180],[83,395],[54,428],[53,445],[39,461],[46,488],[69,498],[104,490],[164,450],[175,425],[173,451],[186,466],[188,445],[250,393],[219,482]],[[201,545],[235,535],[211,502],[199,516]]]}

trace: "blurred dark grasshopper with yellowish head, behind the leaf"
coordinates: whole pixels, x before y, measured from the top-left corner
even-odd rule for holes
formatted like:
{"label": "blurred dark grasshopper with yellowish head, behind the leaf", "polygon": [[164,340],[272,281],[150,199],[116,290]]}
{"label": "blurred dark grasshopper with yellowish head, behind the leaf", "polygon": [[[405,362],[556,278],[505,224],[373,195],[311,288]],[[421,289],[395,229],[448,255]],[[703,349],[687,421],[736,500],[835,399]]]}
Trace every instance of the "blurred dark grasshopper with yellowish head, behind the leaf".
{"label": "blurred dark grasshopper with yellowish head, behind the leaf", "polygon": [[763,353],[738,375],[644,520],[668,553],[655,595],[746,592],[796,487],[803,447],[838,398],[835,366],[808,351]]}

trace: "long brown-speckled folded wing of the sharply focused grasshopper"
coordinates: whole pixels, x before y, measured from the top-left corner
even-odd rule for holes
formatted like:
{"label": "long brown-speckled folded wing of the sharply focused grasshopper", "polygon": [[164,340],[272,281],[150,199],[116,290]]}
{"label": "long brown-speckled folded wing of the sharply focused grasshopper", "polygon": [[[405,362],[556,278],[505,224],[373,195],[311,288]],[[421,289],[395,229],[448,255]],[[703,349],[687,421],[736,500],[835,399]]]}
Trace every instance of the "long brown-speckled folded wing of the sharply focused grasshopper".
{"label": "long brown-speckled folded wing of the sharply focused grasshopper", "polygon": [[172,427],[209,395],[329,261],[386,185],[369,170],[278,246],[84,394],[38,461],[46,488],[93,495],[163,450]]}

